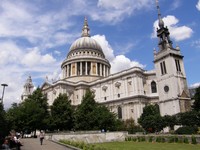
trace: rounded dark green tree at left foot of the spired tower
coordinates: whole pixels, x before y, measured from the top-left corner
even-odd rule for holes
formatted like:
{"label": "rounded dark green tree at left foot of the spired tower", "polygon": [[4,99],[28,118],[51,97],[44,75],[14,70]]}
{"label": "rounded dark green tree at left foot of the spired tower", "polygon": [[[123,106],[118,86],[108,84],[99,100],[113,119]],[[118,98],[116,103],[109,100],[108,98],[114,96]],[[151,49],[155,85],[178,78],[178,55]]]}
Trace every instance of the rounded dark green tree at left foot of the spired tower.
{"label": "rounded dark green tree at left foot of the spired tower", "polygon": [[158,132],[165,126],[163,118],[160,116],[158,105],[145,106],[141,117],[138,119],[138,123],[147,132]]}

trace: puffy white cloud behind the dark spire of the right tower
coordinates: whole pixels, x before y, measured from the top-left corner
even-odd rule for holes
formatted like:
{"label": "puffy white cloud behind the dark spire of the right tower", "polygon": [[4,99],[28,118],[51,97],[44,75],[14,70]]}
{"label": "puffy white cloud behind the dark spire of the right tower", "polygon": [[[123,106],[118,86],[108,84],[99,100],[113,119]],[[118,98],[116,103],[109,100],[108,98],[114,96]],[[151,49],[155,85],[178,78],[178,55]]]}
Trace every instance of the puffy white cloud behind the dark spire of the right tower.
{"label": "puffy white cloud behind the dark spire of the right tower", "polygon": [[[179,20],[175,16],[167,16],[163,18],[165,26],[169,28],[170,36],[175,41],[182,41],[188,39],[192,36],[193,30],[187,26],[178,26]],[[156,37],[156,31],[158,28],[158,20],[156,20],[153,24],[152,37]]]}

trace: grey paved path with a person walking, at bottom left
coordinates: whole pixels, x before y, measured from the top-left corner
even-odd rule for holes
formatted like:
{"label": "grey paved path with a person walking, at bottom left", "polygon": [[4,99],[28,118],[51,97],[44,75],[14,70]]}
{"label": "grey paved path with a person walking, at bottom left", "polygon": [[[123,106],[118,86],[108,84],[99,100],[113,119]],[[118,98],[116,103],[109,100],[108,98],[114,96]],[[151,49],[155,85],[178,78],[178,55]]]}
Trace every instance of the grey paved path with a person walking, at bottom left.
{"label": "grey paved path with a person walking, at bottom left", "polygon": [[40,145],[39,138],[23,138],[20,140],[23,143],[21,150],[71,150],[48,140],[44,140],[43,145]]}

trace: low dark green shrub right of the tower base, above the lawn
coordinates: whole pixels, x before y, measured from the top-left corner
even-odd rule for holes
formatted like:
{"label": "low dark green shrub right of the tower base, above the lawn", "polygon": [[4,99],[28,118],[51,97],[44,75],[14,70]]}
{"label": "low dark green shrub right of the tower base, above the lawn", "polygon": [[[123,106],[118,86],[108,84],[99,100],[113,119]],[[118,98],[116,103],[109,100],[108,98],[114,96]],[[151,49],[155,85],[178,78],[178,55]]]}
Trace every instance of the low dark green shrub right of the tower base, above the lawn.
{"label": "low dark green shrub right of the tower base, above the lawn", "polygon": [[196,134],[198,131],[197,127],[190,127],[190,126],[184,126],[178,128],[175,133],[176,134]]}

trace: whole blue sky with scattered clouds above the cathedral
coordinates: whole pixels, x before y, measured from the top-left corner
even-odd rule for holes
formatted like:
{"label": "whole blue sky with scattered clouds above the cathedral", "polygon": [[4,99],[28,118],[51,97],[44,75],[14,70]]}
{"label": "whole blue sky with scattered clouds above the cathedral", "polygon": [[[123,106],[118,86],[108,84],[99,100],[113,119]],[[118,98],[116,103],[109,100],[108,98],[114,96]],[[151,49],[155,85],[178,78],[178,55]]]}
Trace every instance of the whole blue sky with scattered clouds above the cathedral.
{"label": "whole blue sky with scattered clouds above the cathedral", "polygon": [[[184,56],[189,87],[200,85],[200,0],[159,0],[173,46]],[[102,46],[111,73],[133,66],[154,69],[155,0],[1,0],[0,83],[4,107],[20,102],[28,76],[35,87],[55,81],[84,17],[91,38]],[[3,87],[0,88],[0,96]]]}

